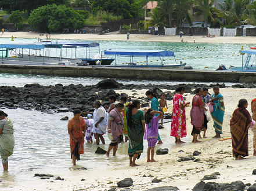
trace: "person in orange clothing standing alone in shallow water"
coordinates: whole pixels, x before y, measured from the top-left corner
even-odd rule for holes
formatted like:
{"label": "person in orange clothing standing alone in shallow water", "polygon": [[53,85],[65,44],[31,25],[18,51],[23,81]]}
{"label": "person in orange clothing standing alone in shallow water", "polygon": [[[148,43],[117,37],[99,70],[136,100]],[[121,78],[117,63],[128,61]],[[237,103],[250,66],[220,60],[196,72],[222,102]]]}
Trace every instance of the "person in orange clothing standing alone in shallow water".
{"label": "person in orange clothing standing alone in shallow water", "polygon": [[80,155],[84,154],[84,137],[87,127],[80,109],[75,109],[73,114],[74,117],[68,121],[67,130],[70,136],[71,159],[73,166],[75,166],[75,160],[80,160]]}

